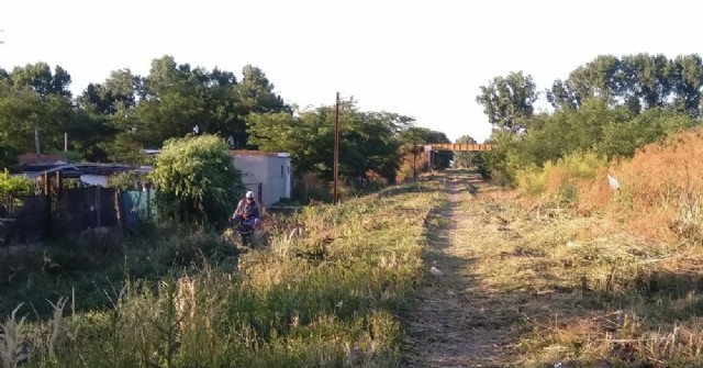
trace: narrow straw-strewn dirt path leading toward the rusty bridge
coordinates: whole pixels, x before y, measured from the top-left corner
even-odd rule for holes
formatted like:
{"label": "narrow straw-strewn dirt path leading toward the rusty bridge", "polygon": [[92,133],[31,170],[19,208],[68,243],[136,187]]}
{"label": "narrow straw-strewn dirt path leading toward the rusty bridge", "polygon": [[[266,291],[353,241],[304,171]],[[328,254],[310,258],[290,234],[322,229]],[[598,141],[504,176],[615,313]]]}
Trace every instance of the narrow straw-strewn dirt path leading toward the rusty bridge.
{"label": "narrow straw-strewn dirt path leading toward the rusty bridge", "polygon": [[506,235],[500,224],[487,223],[473,190],[481,186],[478,176],[446,180],[448,203],[429,221],[427,276],[405,324],[406,367],[510,367],[516,357],[511,325],[517,309],[482,290],[471,271],[488,255],[481,249]]}

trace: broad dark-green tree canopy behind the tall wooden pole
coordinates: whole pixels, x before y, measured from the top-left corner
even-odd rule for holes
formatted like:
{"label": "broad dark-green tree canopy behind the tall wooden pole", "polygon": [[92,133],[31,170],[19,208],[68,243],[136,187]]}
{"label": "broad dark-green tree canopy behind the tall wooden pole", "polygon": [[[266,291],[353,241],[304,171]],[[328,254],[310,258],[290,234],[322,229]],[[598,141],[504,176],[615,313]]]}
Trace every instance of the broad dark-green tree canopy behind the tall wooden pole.
{"label": "broad dark-green tree canopy behind the tall wooden pole", "polygon": [[[358,111],[344,103],[339,119],[339,176],[365,177],[369,170],[394,180],[401,135],[412,119],[389,112]],[[288,152],[298,175],[334,174],[335,109],[321,107],[295,114],[257,113],[247,116],[249,143],[263,150]]]}

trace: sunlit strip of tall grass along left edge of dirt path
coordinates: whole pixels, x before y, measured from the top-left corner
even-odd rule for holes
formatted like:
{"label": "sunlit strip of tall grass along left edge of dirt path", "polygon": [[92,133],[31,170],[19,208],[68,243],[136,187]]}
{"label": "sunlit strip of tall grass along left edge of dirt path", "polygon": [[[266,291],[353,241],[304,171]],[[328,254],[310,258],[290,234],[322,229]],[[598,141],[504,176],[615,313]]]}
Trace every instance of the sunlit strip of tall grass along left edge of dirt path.
{"label": "sunlit strip of tall grass along left edge of dirt path", "polygon": [[433,186],[306,208],[238,271],[130,281],[108,310],[70,313],[62,299],[53,320],[22,327],[18,313],[0,353],[27,352],[29,367],[399,366],[397,313],[421,275]]}

